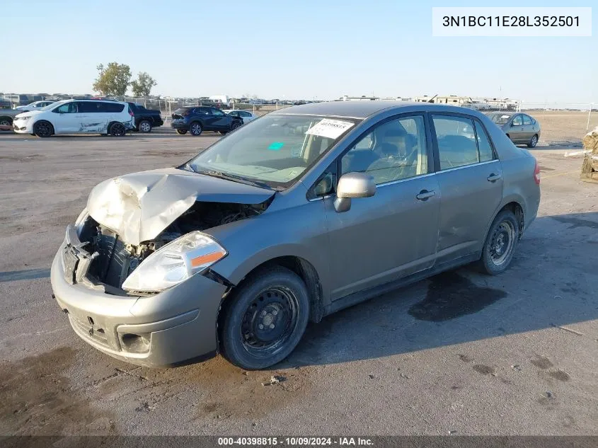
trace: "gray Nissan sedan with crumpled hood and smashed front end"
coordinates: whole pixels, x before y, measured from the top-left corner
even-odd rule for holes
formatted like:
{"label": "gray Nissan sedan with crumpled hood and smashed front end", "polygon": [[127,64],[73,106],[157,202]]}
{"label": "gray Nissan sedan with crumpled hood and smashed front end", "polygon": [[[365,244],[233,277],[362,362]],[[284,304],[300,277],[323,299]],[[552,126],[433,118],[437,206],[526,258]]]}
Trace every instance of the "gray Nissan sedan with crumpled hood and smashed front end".
{"label": "gray Nissan sedan with crumpled hood and smashed front end", "polygon": [[93,188],[52,263],[74,331],[146,366],[282,361],[308,321],[476,263],[504,272],[539,169],[473,110],[299,105]]}

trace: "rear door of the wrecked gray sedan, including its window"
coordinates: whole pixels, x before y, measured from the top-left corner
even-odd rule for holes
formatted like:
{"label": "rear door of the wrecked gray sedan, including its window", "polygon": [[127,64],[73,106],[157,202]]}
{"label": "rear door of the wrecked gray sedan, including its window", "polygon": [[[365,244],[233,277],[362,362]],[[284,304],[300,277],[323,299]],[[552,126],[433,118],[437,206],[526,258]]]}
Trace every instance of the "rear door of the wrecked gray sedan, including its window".
{"label": "rear door of the wrecked gray sedan, including its window", "polygon": [[440,189],[437,263],[441,264],[481,250],[502,200],[502,167],[477,118],[431,117]]}

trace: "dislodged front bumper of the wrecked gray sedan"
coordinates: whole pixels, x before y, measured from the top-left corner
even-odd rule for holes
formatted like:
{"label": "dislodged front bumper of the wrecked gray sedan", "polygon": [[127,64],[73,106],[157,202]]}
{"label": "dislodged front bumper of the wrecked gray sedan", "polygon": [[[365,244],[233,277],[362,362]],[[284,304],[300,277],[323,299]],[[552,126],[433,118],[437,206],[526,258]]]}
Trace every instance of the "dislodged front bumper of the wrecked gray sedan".
{"label": "dislodged front bumper of the wrecked gray sedan", "polygon": [[147,367],[216,354],[225,285],[198,274],[148,297],[108,294],[86,278],[91,255],[82,246],[69,226],[50,276],[54,297],[81,339],[107,355]]}

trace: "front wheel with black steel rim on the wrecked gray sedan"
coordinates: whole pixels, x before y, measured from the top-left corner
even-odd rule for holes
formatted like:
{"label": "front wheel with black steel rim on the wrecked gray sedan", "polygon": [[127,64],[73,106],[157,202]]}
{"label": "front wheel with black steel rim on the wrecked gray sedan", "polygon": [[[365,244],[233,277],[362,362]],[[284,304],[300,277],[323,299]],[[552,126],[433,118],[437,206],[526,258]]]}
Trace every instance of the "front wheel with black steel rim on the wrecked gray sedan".
{"label": "front wheel with black steel rim on the wrecked gray sedan", "polygon": [[265,369],[297,347],[309,318],[309,293],[291,270],[270,268],[250,277],[221,312],[222,355],[242,369]]}

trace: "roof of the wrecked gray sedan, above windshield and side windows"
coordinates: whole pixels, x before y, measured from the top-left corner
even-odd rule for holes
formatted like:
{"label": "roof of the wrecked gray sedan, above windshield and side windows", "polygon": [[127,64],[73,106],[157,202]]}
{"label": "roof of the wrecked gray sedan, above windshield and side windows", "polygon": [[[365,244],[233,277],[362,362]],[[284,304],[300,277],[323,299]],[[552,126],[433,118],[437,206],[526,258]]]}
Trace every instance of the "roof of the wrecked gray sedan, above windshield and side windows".
{"label": "roof of the wrecked gray sedan, above windshield and side windows", "polygon": [[330,117],[367,118],[382,112],[383,110],[389,109],[396,109],[397,113],[401,113],[401,109],[406,109],[406,112],[419,110],[481,115],[481,113],[478,113],[476,110],[461,108],[459,106],[389,100],[349,100],[308,103],[275,110],[271,113],[276,115],[324,115]]}

